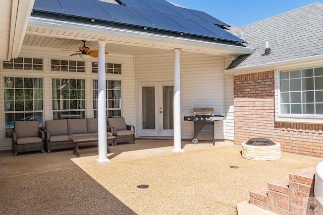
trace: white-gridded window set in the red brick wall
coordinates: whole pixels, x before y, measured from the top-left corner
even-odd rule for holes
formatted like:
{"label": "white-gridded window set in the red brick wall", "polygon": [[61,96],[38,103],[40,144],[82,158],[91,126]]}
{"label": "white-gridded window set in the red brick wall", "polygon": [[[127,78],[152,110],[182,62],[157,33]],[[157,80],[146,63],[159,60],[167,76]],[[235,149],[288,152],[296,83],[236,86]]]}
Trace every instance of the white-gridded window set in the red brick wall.
{"label": "white-gridded window set in the red brick wall", "polygon": [[323,120],[323,67],[280,71],[278,92],[278,116]]}

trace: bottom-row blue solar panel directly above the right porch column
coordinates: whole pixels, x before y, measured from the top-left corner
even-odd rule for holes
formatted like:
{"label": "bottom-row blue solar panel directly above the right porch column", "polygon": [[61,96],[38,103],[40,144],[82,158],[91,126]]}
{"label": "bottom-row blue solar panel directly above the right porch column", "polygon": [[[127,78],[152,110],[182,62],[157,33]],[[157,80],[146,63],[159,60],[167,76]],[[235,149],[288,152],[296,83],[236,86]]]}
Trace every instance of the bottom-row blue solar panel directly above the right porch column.
{"label": "bottom-row blue solar panel directly above the right porch column", "polygon": [[164,14],[160,14],[157,12],[146,11],[142,9],[135,9],[141,16],[149,20],[157,29],[167,30],[167,31],[175,31],[175,32],[183,32],[186,33],[187,30],[166,17]]}

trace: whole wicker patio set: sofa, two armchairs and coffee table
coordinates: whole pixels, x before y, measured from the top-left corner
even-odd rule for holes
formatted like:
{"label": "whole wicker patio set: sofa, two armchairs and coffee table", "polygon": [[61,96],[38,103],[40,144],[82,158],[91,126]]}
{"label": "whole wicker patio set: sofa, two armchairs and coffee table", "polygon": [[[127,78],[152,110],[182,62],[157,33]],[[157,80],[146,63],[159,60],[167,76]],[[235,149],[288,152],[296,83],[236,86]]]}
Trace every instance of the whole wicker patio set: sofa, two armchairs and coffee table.
{"label": "whole wicker patio set: sofa, two armchairs and coffee table", "polygon": [[[97,146],[97,118],[46,120],[41,130],[38,121],[15,121],[12,129],[12,147],[14,156],[18,153],[73,149],[79,157],[79,147]],[[107,151],[109,144],[116,146],[120,142],[135,143],[135,127],[127,125],[123,117],[107,118]]]}

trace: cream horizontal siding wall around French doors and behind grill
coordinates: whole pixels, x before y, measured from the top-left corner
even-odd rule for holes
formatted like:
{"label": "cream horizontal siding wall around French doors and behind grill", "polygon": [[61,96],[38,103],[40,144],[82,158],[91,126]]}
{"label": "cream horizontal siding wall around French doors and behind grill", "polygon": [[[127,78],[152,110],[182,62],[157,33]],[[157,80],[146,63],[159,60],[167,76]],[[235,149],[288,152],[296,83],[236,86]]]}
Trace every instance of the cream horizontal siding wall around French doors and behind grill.
{"label": "cream horizontal siding wall around French doors and behind grill", "polygon": [[[140,55],[135,59],[136,82],[174,81],[173,52]],[[192,139],[194,124],[184,121],[184,115],[192,115],[193,108],[213,107],[214,114],[224,115],[223,57],[181,52],[180,75],[182,138]],[[216,139],[224,139],[223,124],[222,120],[214,123]]]}

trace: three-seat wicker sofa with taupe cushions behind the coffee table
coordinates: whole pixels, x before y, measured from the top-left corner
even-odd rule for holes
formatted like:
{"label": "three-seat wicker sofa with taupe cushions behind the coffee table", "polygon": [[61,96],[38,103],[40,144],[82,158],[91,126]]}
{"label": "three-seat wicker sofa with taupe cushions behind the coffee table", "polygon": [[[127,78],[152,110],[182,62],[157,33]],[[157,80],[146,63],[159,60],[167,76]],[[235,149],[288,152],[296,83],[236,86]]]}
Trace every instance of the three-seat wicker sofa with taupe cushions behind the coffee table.
{"label": "three-seat wicker sofa with taupe cushions behind the coffee table", "polygon": [[[97,134],[97,118],[46,120],[44,132],[45,148],[48,153],[51,150],[74,148],[74,142],[69,136]],[[112,132],[107,134],[112,135]],[[113,146],[114,139],[107,139],[107,144]],[[78,146],[97,146],[97,140],[80,142]]]}

